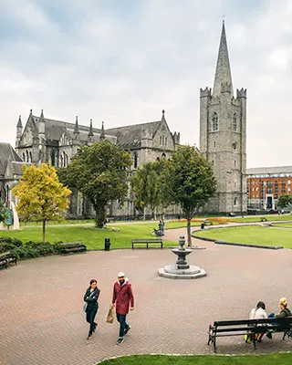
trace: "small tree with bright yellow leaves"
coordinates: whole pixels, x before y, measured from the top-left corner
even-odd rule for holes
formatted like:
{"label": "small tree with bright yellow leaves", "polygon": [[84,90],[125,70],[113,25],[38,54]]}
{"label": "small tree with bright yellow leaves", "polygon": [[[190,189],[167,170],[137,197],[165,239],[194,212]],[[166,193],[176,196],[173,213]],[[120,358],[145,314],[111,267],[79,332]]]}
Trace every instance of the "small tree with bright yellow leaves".
{"label": "small tree with bright yellow leaves", "polygon": [[12,192],[18,198],[16,210],[25,221],[43,223],[43,242],[46,242],[46,223],[62,219],[68,208],[71,191],[59,183],[56,169],[43,163],[39,167],[24,166],[24,174]]}

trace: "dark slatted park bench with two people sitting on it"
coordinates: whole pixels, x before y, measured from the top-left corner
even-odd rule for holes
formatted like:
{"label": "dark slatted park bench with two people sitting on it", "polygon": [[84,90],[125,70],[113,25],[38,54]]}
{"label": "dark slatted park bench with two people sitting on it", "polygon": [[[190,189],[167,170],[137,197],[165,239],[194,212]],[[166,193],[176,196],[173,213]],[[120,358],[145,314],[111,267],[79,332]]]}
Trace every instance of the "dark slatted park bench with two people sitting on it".
{"label": "dark slatted park bench with two people sitting on it", "polygon": [[255,335],[267,332],[283,332],[283,339],[286,336],[292,337],[292,317],[217,321],[213,326],[209,326],[208,345],[213,343],[216,352],[218,337],[249,335],[255,349]]}

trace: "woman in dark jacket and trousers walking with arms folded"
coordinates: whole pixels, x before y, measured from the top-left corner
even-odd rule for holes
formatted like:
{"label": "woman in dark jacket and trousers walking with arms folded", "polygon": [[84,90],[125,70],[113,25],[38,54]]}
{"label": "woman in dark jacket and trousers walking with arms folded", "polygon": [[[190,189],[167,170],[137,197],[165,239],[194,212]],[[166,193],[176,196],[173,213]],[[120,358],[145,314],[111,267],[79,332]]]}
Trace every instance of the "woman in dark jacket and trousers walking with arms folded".
{"label": "woman in dark jacket and trousers walking with arms folded", "polygon": [[98,312],[99,308],[99,293],[100,290],[98,288],[98,281],[96,279],[91,279],[89,283],[89,288],[84,294],[84,301],[85,304],[85,313],[86,313],[86,320],[89,323],[89,336],[88,339],[92,339],[93,333],[95,332],[98,323],[94,321],[95,316]]}

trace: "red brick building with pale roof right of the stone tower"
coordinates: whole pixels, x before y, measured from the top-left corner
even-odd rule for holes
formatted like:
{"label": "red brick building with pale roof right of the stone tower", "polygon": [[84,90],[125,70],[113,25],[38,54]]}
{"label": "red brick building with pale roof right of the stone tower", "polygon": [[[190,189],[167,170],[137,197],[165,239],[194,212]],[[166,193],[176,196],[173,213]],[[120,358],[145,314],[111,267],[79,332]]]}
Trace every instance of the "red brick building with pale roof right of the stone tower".
{"label": "red brick building with pale roof right of the stone tower", "polygon": [[247,169],[247,207],[276,209],[280,195],[292,195],[292,166]]}

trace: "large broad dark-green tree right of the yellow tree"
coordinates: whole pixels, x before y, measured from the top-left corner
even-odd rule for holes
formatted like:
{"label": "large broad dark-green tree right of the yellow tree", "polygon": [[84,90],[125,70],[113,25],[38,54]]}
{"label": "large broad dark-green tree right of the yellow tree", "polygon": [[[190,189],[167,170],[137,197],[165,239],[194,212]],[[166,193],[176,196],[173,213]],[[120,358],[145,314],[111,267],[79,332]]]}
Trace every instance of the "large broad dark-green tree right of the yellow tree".
{"label": "large broad dark-green tree right of the yellow tree", "polygon": [[81,147],[68,167],[60,168],[58,174],[63,183],[77,188],[89,199],[96,213],[96,226],[102,228],[108,203],[124,201],[130,165],[130,152],[110,141],[99,141]]}

